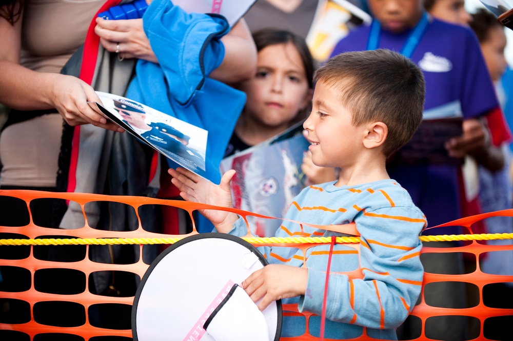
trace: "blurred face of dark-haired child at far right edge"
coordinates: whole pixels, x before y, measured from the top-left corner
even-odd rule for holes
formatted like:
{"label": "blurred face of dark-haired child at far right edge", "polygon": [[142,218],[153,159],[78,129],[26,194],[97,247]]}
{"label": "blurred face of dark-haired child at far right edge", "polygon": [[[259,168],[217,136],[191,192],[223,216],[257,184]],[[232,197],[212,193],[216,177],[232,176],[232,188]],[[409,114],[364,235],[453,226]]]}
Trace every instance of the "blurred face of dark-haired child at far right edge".
{"label": "blurred face of dark-haired child at far right edge", "polygon": [[506,34],[504,28],[501,26],[491,27],[488,31],[488,39],[481,42],[481,51],[483,51],[484,61],[488,71],[490,71],[491,80],[494,82],[498,81],[506,70],[505,48]]}

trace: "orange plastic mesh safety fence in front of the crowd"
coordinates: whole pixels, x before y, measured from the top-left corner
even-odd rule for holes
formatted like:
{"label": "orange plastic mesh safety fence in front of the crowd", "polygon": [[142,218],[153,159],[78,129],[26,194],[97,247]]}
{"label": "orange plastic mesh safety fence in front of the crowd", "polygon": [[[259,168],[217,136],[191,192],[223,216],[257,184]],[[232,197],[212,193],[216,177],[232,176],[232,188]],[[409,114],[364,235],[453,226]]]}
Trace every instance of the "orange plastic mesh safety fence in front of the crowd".
{"label": "orange plastic mesh safety fence in front of the crowd", "polygon": [[[110,293],[95,294],[91,290],[91,274],[97,272],[110,272],[112,277],[118,278],[126,274],[135,274],[142,278],[150,261],[143,259],[143,249],[148,244],[170,244],[178,238],[197,233],[192,220],[192,232],[181,235],[168,235],[146,231],[144,222],[139,218],[139,211],[145,205],[173,206],[187,212],[192,217],[193,211],[198,209],[220,209],[208,205],[187,203],[175,200],[162,200],[148,197],[130,196],[107,196],[99,194],[81,193],[49,193],[38,191],[21,190],[0,190],[0,196],[12,197],[23,200],[27,205],[27,224],[23,226],[0,226],[0,339],[16,340],[93,340],[100,341],[104,336],[117,336],[119,340],[131,339],[130,311],[133,302],[136,285],[130,289],[132,294],[116,294],[116,288]],[[37,218],[30,211],[32,200],[48,200],[49,198],[65,199],[75,202],[82,207],[84,220],[78,225],[66,226],[66,229],[52,229],[38,226]],[[93,229],[88,225],[91,217],[87,216],[87,205],[94,203],[116,203],[133,208],[139,218],[139,226],[127,227],[127,231],[108,231]],[[2,209],[2,208],[0,208]],[[260,216],[258,214],[245,212],[236,209],[223,209],[238,213],[244,217]],[[513,210],[481,214],[447,223],[447,226],[462,226],[471,230],[472,224],[493,216],[513,216]],[[267,217],[268,218],[268,217]],[[462,274],[438,274],[426,272],[424,276],[423,290],[419,304],[413,309],[408,317],[413,322],[422,326],[416,340],[431,340],[429,338],[429,325],[436,323],[438,316],[467,316],[470,320],[471,329],[469,338],[487,340],[486,326],[490,319],[513,317],[512,307],[500,308],[488,306],[483,302],[483,292],[493,290],[497,283],[513,282],[513,274],[494,275],[481,271],[480,263],[488,252],[501,252],[513,250],[513,245],[486,245],[483,241],[473,239],[494,239],[511,238],[511,235],[466,235],[463,238],[469,242],[460,247],[435,247],[437,242],[431,240],[456,240],[456,236],[426,236],[421,239],[428,244],[422,249],[422,255],[455,253],[464,256],[469,265]],[[51,239],[54,238],[54,239]],[[71,238],[71,239],[69,239]],[[77,239],[78,238],[78,239]],[[92,239],[89,239],[92,238]],[[97,239],[97,238],[123,238],[123,239]],[[143,238],[143,239],[137,239]],[[169,239],[156,239],[169,238]],[[22,243],[18,239],[25,240]],[[37,243],[42,239],[44,243]],[[93,262],[89,258],[90,244],[102,244],[102,240],[110,240],[112,244],[135,244],[133,247],[134,262],[130,264],[108,264]],[[306,240],[304,243],[274,244],[277,240],[273,238],[247,238],[255,246],[293,246],[302,249],[304,252],[310,247],[319,245],[319,242],[312,243]],[[320,240],[320,239],[319,239]],[[5,243],[4,243],[5,242]],[[265,243],[265,244],[264,244]],[[329,240],[322,240],[322,244],[329,243]],[[347,245],[359,250],[358,238],[347,239]],[[64,245],[63,245],[64,244]],[[77,245],[78,244],[78,245]],[[82,245],[80,245],[82,244]],[[73,254],[75,259],[49,260],[48,246],[59,245],[55,248],[75,248]],[[109,245],[105,247],[110,248]],[[110,250],[110,249],[109,249]],[[58,252],[56,253],[58,255]],[[513,259],[510,260],[513,262]],[[361,269],[346,272],[352,278],[361,278]],[[13,284],[9,285],[9,279],[16,278]],[[441,282],[464,283],[469,290],[469,306],[458,308],[446,308],[443,306],[432,306],[426,302],[424,290],[427,286],[436,285]],[[506,298],[506,297],[505,297]],[[511,299],[511,297],[509,297]],[[7,311],[7,313],[6,313]],[[284,305],[284,314],[304,316],[309,318],[311,314],[299,313],[296,305]],[[107,315],[116,317],[117,322],[111,325],[105,323],[98,316]],[[511,319],[504,320],[513,322]],[[308,324],[307,324],[308,326]],[[426,330],[427,335],[426,335]],[[492,335],[489,334],[489,335]],[[313,340],[318,339],[308,334],[300,337],[283,338],[289,340]],[[371,339],[364,331],[364,334],[354,340]]]}

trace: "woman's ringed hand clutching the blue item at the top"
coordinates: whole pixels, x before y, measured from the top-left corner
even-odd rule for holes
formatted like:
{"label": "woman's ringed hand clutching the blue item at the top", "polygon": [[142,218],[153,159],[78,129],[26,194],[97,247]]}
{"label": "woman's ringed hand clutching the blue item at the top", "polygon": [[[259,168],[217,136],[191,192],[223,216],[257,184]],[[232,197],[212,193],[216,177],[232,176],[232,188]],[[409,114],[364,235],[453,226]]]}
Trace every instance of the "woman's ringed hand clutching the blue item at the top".
{"label": "woman's ringed hand clutching the blue item at the top", "polygon": [[143,29],[143,19],[105,20],[96,18],[94,33],[109,52],[117,52],[120,58],[139,58],[159,63]]}

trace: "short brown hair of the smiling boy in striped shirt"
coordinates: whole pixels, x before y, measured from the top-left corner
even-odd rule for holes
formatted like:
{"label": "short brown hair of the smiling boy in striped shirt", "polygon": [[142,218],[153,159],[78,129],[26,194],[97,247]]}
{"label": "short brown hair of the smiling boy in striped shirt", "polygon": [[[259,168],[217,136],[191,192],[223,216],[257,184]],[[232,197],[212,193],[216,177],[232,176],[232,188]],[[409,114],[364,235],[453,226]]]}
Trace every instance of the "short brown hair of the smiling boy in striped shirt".
{"label": "short brown hair of the smiling boy in striped shirt", "polygon": [[313,76],[340,90],[340,101],[355,126],[383,122],[388,158],[406,144],[422,122],[425,83],[422,71],[405,56],[386,49],[346,52],[330,58]]}

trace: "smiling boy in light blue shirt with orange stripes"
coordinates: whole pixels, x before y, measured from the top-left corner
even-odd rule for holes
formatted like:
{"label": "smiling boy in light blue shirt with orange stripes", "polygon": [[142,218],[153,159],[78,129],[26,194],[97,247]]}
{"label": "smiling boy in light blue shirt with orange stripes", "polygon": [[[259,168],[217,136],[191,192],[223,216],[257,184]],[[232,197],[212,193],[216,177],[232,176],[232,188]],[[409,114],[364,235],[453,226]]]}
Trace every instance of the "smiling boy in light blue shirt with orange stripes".
{"label": "smiling boy in light blue shirt with orange stripes", "polygon": [[[304,123],[315,165],[339,167],[337,181],[305,188],[294,198],[286,219],[326,226],[326,230],[283,222],[276,236],[340,236],[329,225],[351,222],[361,234],[362,279],[334,273],[356,270],[358,253],[335,245],[328,280],[325,337],[362,335],[397,339],[398,327],[420,294],[423,268],[419,234],[424,214],[409,194],[390,179],[385,161],[403,146],[422,121],[424,78],[404,56],[389,51],[351,52],[331,58],[315,73],[312,112]],[[193,202],[231,207],[229,182],[215,186],[184,169],[169,170],[181,196]],[[247,227],[233,213],[205,210],[219,232],[244,236]],[[298,303],[300,311],[322,314],[329,245],[306,252],[261,248],[270,265],[254,272],[243,288],[260,310],[272,300]],[[320,318],[309,332],[319,336]],[[284,316],[283,337],[305,332],[304,318]]]}

